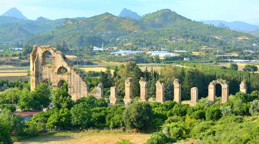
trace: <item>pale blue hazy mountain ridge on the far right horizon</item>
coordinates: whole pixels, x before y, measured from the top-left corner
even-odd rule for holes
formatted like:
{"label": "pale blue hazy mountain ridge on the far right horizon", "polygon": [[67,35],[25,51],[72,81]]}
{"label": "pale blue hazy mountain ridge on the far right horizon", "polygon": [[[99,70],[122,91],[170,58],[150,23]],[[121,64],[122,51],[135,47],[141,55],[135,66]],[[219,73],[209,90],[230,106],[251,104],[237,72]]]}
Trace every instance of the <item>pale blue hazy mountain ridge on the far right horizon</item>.
{"label": "pale blue hazy mountain ridge on the far right horizon", "polygon": [[253,24],[248,24],[245,22],[240,22],[240,21],[234,21],[234,22],[226,22],[224,20],[201,20],[200,22],[203,22],[204,24],[214,24],[214,26],[217,26],[219,23],[225,24],[230,27],[232,30],[242,30],[242,31],[247,31],[247,30],[256,30],[259,29],[259,26],[253,25]]}

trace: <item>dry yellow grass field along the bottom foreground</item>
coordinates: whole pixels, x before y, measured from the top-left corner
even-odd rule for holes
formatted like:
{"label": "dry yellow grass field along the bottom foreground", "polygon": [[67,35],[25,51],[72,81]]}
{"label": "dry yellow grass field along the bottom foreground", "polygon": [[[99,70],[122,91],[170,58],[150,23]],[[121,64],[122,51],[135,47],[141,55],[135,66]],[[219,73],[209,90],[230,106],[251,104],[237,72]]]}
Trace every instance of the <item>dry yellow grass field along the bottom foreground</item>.
{"label": "dry yellow grass field along the bottom foreground", "polygon": [[121,139],[142,144],[151,134],[141,133],[92,133],[92,132],[58,132],[50,135],[42,135],[15,144],[116,144]]}

